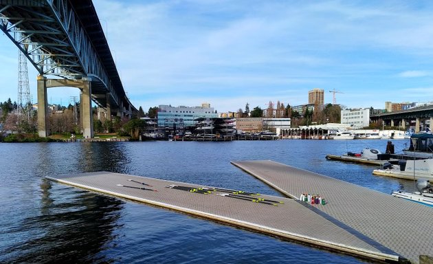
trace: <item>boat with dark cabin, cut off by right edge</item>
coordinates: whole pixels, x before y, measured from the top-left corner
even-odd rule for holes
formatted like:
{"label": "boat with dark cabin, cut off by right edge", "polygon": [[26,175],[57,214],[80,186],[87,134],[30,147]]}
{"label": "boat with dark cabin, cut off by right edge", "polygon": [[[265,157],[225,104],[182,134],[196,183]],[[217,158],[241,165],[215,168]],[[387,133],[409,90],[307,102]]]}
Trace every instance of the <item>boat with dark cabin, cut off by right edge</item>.
{"label": "boat with dark cabin, cut off by right edge", "polygon": [[410,136],[409,148],[403,149],[409,157],[428,159],[433,157],[433,135],[417,133]]}

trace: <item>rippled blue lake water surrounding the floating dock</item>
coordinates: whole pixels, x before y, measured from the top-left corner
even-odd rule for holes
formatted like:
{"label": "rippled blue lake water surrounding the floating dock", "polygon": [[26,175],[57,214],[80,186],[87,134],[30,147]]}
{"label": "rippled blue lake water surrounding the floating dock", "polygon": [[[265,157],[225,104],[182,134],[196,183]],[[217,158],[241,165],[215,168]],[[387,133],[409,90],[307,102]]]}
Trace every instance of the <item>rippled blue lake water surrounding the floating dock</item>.
{"label": "rippled blue lake water surrounding the floating dock", "polygon": [[[407,140],[395,140],[396,152]],[[74,142],[0,144],[0,263],[362,263],[186,214],[98,195],[44,179],[107,170],[279,195],[232,166],[272,159],[380,192],[412,181],[327,153],[384,151],[384,140]]]}

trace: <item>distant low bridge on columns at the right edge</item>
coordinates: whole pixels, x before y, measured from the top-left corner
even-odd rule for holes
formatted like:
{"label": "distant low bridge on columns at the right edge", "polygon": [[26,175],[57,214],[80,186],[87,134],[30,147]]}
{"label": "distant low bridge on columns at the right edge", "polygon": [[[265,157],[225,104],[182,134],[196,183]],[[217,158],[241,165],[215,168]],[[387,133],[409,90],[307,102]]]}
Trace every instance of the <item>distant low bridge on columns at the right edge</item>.
{"label": "distant low bridge on columns at the right edge", "polygon": [[420,127],[429,127],[430,131],[433,131],[433,105],[370,115],[370,122],[380,120],[386,126],[401,126],[403,129],[406,129],[406,126],[414,126],[416,133],[420,131]]}

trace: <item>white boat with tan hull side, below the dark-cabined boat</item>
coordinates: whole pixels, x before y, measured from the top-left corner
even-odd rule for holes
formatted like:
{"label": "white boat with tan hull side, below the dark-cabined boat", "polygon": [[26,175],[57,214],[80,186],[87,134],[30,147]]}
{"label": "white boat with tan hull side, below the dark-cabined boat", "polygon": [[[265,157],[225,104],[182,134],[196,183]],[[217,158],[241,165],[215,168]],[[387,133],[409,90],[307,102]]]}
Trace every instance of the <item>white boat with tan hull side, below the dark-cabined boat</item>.
{"label": "white boat with tan hull side, below the dark-cabined boat", "polygon": [[413,180],[433,179],[433,159],[401,159],[398,165],[384,164],[383,168],[373,170],[373,175]]}

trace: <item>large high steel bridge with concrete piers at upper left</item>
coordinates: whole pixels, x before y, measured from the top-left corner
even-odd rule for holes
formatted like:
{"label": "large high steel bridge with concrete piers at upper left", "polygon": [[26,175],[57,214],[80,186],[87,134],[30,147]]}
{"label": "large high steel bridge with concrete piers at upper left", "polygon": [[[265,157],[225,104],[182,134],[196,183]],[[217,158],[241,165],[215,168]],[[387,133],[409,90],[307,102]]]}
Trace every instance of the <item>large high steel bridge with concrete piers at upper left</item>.
{"label": "large high steel bridge with concrete piers at upper left", "polygon": [[36,68],[38,133],[49,135],[47,88],[77,87],[84,137],[93,137],[91,102],[123,118],[126,96],[91,0],[0,0],[0,30]]}

